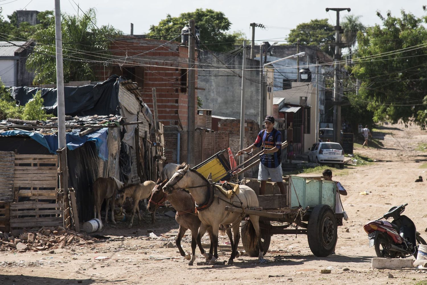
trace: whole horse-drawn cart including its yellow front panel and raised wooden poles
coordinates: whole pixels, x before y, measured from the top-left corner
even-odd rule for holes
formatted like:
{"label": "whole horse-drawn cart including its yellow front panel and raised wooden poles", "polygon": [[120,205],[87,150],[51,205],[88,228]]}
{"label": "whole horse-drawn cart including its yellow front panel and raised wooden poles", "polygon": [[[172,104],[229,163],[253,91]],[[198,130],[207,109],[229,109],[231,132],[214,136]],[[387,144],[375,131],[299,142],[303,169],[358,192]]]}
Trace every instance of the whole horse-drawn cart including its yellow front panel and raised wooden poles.
{"label": "whole horse-drawn cart including its yellow front panel and raised wooden poles", "polygon": [[[282,148],[287,146],[285,141]],[[252,167],[259,165],[259,155],[252,156],[241,165],[232,169],[227,165],[226,150],[216,153],[210,159],[194,167],[207,177],[212,173],[213,182],[229,180],[237,182],[240,173],[244,173]],[[250,179],[244,178],[238,182],[243,185],[250,183]],[[312,253],[319,257],[325,257],[333,252],[337,240],[337,218],[343,214],[335,213],[336,183],[320,177],[300,177],[290,175],[284,177],[286,194],[258,195],[259,206],[255,209],[242,209],[233,206],[225,207],[228,212],[243,213],[260,216],[260,229],[262,234],[264,253],[268,250],[270,238],[277,234],[305,234]],[[253,186],[256,191],[259,184]],[[250,185],[252,187],[252,185]],[[257,191],[256,191],[257,192]],[[280,222],[281,225],[271,225],[271,221]],[[250,256],[258,256],[259,249],[249,250],[249,240],[243,234],[250,220],[242,221],[242,243],[246,253]],[[296,225],[296,226],[295,226]]]}

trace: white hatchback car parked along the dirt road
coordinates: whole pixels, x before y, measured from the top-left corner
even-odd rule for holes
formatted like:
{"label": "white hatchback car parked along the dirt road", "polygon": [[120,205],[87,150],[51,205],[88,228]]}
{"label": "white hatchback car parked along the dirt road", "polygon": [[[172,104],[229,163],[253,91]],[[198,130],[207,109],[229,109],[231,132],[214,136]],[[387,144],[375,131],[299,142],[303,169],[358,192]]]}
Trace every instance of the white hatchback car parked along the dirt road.
{"label": "white hatchback car parked along the dirt road", "polygon": [[344,150],[339,143],[319,142],[313,144],[308,150],[308,161],[319,164],[339,164],[339,168],[344,168]]}

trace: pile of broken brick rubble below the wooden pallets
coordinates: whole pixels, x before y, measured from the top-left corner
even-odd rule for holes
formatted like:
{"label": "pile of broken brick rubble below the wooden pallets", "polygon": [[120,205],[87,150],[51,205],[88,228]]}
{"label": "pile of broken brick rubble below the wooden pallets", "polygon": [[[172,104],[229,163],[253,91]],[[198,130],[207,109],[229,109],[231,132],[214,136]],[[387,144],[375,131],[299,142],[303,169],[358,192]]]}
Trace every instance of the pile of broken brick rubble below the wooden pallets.
{"label": "pile of broken brick rubble below the wooden pallets", "polygon": [[70,231],[61,226],[42,227],[37,232],[24,229],[22,234],[16,236],[11,233],[0,233],[0,239],[0,252],[53,251],[56,248],[70,245],[94,244],[96,240],[88,235]]}

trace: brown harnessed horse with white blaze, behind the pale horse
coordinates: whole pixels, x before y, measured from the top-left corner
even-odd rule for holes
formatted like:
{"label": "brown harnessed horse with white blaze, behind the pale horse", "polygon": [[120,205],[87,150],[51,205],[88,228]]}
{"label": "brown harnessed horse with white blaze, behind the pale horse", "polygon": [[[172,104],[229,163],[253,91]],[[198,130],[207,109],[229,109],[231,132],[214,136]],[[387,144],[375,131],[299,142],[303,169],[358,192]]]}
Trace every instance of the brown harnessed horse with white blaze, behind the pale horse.
{"label": "brown harnessed horse with white blaze, behind the pale horse", "polygon": [[[167,179],[163,182],[158,179],[157,185],[152,190],[150,200],[148,202],[147,210],[151,213],[157,211],[158,207],[164,206],[165,201],[169,201],[173,208],[177,211],[175,214],[175,220],[179,224],[178,235],[175,240],[176,247],[178,247],[179,253],[181,256],[184,256],[186,259],[190,259],[190,254],[185,254],[184,250],[181,247],[181,239],[184,236],[187,229],[191,231],[191,250],[192,257],[188,262],[188,265],[193,265],[194,260],[196,260],[196,243],[197,243],[197,234],[200,228],[200,219],[195,214],[195,202],[193,197],[185,190],[178,189],[173,191],[170,194],[166,194],[162,191],[163,186],[166,184]],[[226,225],[228,226],[228,225]],[[231,247],[233,247],[233,238],[231,235],[231,229],[226,230],[228,238],[230,238]],[[199,246],[200,252],[204,253],[205,250],[202,247],[201,243],[197,244]],[[211,244],[211,249],[209,250],[209,259],[212,258],[213,244]]]}

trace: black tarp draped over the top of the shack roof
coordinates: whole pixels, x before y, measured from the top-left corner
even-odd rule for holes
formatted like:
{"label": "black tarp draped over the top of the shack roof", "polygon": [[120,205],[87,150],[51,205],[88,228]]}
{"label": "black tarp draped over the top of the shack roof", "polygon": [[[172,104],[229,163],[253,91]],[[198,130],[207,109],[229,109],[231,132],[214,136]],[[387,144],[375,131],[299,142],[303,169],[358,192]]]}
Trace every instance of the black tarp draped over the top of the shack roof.
{"label": "black tarp draped over the top of the shack roof", "polygon": [[[119,78],[118,81],[117,78]],[[119,82],[123,80],[126,79],[114,74],[104,82],[96,85],[65,86],[65,115],[119,115]],[[56,88],[12,87],[11,96],[18,101],[20,106],[23,106],[39,90],[41,91],[41,97],[44,99],[46,112],[57,115]]]}

